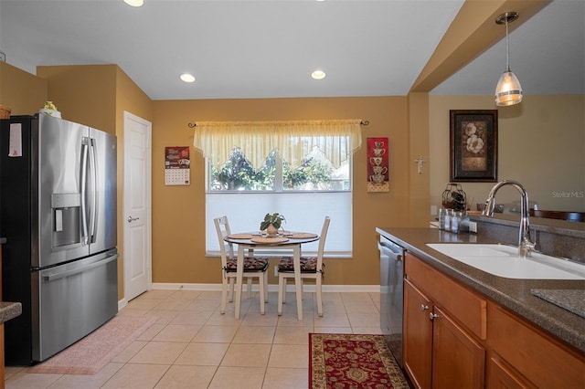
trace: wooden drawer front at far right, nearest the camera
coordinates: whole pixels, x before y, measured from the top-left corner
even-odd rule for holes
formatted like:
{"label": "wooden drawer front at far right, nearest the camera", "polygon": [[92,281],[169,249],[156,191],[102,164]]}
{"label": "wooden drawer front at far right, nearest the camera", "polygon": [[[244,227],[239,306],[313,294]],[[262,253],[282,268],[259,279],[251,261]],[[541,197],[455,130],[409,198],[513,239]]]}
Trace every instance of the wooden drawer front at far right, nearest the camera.
{"label": "wooden drawer front at far right, nearest the camera", "polygon": [[488,318],[492,349],[532,384],[550,388],[585,387],[582,354],[492,302],[488,304]]}

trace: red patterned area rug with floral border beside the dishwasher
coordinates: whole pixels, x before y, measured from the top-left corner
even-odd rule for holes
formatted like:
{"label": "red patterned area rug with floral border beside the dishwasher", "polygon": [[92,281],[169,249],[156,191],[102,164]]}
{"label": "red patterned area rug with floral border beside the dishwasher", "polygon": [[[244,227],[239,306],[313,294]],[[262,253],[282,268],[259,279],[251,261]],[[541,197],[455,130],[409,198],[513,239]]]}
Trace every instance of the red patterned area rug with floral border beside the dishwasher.
{"label": "red patterned area rug with floral border beside the dishwasher", "polygon": [[382,335],[309,334],[309,387],[408,389]]}

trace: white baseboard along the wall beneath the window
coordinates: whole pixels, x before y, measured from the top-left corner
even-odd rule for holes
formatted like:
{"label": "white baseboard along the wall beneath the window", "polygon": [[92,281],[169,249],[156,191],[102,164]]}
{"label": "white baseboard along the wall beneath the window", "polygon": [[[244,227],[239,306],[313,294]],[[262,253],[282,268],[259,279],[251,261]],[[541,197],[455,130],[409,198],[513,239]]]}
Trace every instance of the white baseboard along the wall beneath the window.
{"label": "white baseboard along the wall beneath the window", "polygon": [[[246,284],[244,284],[246,285]],[[199,291],[221,291],[221,284],[167,284],[167,283],[153,283],[153,289],[161,290],[199,290]],[[252,291],[258,290],[258,284],[252,285]],[[307,292],[314,292],[314,285],[303,285],[303,290]],[[277,292],[278,285],[271,284],[268,286],[269,292]],[[287,284],[287,292],[294,291],[293,284]],[[323,292],[367,292],[379,293],[379,285],[324,285]]]}

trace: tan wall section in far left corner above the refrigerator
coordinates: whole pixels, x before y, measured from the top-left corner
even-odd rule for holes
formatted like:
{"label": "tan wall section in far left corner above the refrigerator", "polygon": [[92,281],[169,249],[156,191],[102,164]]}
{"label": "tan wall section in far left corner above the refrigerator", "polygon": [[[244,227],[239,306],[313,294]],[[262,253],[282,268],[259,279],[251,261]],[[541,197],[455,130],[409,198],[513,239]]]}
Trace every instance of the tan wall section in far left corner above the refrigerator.
{"label": "tan wall section in far left corner above the refrigerator", "polygon": [[0,104],[10,107],[11,115],[32,115],[47,96],[47,80],[0,62]]}

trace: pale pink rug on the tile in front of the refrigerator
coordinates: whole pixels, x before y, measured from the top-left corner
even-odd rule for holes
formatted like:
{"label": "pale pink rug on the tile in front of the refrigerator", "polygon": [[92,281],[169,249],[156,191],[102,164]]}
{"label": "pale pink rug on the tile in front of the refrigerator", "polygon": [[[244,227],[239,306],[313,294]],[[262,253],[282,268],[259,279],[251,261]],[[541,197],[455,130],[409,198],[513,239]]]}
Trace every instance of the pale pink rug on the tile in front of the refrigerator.
{"label": "pale pink rug on the tile in front of the refrigerator", "polygon": [[96,331],[47,361],[28,369],[28,373],[92,375],[101,371],[113,357],[134,342],[156,321],[154,316],[117,315]]}

